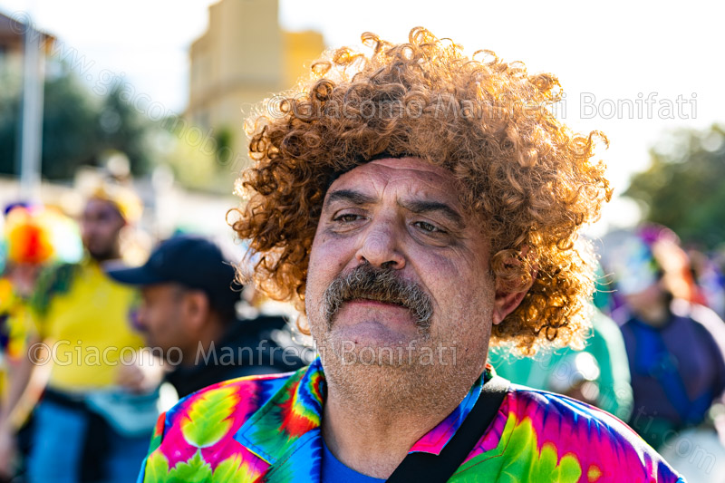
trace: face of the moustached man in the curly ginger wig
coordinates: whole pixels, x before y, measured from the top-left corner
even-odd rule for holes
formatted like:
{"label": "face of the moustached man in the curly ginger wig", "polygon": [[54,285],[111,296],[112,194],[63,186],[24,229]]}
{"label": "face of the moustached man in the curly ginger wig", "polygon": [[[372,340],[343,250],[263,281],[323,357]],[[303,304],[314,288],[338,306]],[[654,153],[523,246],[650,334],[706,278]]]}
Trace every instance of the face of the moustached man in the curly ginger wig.
{"label": "face of the moustached man in the curly ginger wig", "polygon": [[[335,365],[462,370],[478,377],[497,297],[488,240],[458,194],[448,170],[415,158],[373,160],[333,182],[314,237],[305,294],[324,364],[332,355]],[[414,304],[401,304],[397,290],[368,296],[357,286],[334,289],[345,275],[365,278],[376,269],[413,287],[432,309],[430,318],[421,321],[411,310]],[[340,300],[341,294],[357,298]],[[431,360],[425,357],[429,352],[437,355]]]}

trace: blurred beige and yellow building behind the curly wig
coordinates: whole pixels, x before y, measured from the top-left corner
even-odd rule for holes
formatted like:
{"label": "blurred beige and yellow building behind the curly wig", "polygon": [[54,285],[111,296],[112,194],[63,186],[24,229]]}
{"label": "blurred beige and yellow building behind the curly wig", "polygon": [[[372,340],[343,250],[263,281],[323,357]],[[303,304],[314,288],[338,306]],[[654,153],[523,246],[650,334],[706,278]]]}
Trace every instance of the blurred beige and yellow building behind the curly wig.
{"label": "blurred beige and yellow building behind the curly wig", "polygon": [[208,30],[191,44],[186,117],[205,132],[227,130],[247,151],[242,126],[252,107],[292,87],[324,50],[322,34],[285,32],[276,0],[220,0]]}

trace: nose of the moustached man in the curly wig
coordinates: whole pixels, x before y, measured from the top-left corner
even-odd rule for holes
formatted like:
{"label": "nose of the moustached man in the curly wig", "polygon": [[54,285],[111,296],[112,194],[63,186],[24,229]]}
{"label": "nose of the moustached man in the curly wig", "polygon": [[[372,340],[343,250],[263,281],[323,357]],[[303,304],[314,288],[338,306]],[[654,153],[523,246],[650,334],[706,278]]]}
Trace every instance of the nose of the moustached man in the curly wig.
{"label": "nose of the moustached man in the curly wig", "polygon": [[401,251],[402,228],[394,218],[373,220],[362,235],[362,241],[355,257],[359,264],[368,262],[372,266],[390,266],[400,270],[405,266]]}

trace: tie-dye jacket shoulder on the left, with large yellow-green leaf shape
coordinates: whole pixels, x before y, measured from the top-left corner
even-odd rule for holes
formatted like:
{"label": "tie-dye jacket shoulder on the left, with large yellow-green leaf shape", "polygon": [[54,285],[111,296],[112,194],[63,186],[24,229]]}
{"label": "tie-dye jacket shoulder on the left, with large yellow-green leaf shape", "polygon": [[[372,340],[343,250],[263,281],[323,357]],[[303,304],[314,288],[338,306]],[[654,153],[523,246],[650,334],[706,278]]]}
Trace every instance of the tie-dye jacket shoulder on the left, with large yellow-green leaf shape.
{"label": "tie-dye jacket shoulder on the left, with large yellow-green leaf shape", "polygon": [[[157,420],[139,481],[207,481],[212,474],[216,481],[217,473],[219,478],[228,476],[229,481],[237,481],[232,477],[238,471],[261,475],[266,462],[234,436],[283,390],[285,383],[299,375],[287,372],[242,377],[218,382],[181,399]],[[216,463],[209,466],[208,461]]]}

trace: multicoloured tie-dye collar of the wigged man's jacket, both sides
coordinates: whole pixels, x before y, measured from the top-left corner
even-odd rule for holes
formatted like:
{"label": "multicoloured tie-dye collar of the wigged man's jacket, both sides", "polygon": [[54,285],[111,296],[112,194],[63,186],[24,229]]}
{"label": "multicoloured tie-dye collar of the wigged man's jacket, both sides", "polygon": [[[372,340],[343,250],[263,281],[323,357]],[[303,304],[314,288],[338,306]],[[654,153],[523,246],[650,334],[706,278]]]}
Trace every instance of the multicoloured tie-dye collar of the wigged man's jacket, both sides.
{"label": "multicoloured tie-dye collar of the wigged man's jacket, both sides", "polygon": [[[471,386],[458,407],[420,438],[410,452],[439,455],[459,430],[461,423],[478,401],[483,384],[493,374],[493,369],[487,364],[486,370]],[[321,437],[319,428],[326,391],[322,362],[318,357],[306,371],[295,372],[285,385],[245,422],[237,432],[237,440],[274,465],[291,449],[295,449],[295,445],[303,441],[306,443],[309,438],[303,437],[310,431]]]}

